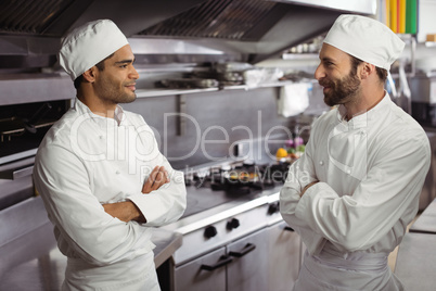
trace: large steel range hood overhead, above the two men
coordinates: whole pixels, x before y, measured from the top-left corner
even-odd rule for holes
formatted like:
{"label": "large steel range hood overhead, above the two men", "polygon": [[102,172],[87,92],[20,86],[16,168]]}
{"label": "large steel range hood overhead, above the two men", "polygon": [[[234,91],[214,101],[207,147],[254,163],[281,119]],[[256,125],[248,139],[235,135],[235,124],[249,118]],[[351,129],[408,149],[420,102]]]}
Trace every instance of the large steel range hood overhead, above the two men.
{"label": "large steel range hood overhead, above the two men", "polygon": [[326,31],[342,13],[375,10],[376,0],[1,1],[0,69],[54,66],[62,37],[98,18],[119,26],[139,63],[257,63]]}

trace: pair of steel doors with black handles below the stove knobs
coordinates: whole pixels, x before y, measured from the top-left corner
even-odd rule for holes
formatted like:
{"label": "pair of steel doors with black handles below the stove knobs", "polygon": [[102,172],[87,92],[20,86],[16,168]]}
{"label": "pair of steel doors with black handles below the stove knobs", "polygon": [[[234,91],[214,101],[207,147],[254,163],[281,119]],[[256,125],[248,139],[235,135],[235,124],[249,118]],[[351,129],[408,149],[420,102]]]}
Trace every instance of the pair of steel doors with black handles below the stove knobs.
{"label": "pair of steel doors with black handles below the stove knobs", "polygon": [[176,267],[175,291],[265,291],[268,237],[261,229]]}

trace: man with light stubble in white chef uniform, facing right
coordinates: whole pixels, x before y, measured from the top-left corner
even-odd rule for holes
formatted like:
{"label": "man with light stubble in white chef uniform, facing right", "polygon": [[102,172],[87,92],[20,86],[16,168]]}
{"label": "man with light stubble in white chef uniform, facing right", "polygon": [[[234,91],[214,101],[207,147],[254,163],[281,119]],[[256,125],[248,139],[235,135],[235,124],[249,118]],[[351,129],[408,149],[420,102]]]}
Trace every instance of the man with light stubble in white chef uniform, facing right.
{"label": "man with light stubble in white chef uniform, facing right", "polygon": [[118,105],[136,99],[131,48],[95,21],[65,37],[59,59],[77,98],[41,142],[34,177],[67,256],[62,290],[159,290],[152,228],[183,214],[185,187],[142,116]]}

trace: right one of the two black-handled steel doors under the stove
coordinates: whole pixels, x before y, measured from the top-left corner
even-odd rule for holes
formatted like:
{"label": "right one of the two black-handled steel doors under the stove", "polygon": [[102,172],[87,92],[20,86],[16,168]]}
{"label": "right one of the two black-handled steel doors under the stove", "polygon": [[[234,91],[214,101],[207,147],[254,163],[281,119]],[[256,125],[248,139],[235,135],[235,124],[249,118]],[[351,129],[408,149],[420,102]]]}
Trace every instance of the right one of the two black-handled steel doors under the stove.
{"label": "right one of the two black-handled steel doors under the stove", "polygon": [[264,228],[228,244],[233,262],[227,266],[228,291],[273,290],[268,288],[268,233]]}

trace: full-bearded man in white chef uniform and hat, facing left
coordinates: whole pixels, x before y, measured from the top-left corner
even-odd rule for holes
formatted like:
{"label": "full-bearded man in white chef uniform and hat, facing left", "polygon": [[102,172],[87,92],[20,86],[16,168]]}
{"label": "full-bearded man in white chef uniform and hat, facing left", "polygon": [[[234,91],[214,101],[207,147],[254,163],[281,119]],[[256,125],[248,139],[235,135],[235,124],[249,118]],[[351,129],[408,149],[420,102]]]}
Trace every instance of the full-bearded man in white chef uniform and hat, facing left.
{"label": "full-bearded man in white chef uniform and hat, facing left", "polygon": [[312,126],[280,211],[307,248],[294,290],[403,290],[387,265],[418,212],[431,163],[422,127],[384,90],[403,42],[369,17],[341,15],[315,76],[335,106]]}

